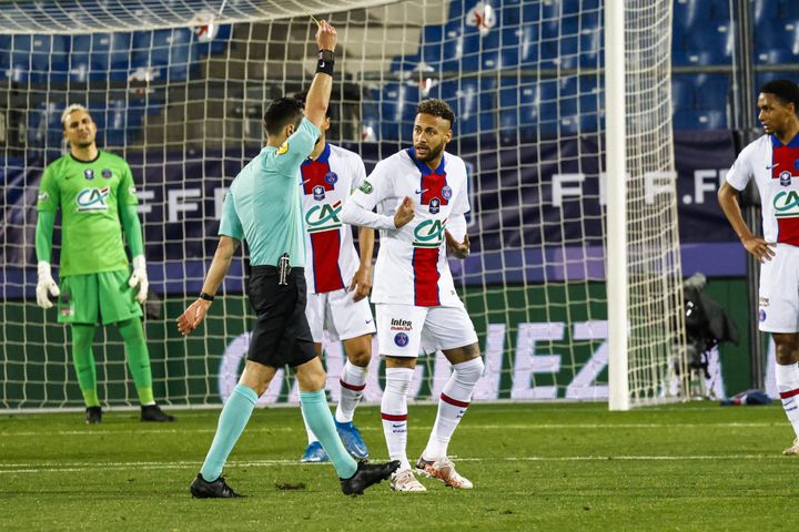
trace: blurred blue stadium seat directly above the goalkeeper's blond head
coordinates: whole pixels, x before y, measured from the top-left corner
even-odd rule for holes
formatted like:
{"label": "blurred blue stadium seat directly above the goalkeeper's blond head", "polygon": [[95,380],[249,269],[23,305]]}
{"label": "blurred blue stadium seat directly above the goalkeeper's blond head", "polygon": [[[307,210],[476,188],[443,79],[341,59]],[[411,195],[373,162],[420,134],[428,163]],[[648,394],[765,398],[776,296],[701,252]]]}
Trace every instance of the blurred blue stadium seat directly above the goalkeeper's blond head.
{"label": "blurred blue stadium seat directly above the goalkeeper's blond head", "polygon": [[131,63],[131,33],[75,35],[70,61],[73,80],[127,81]]}

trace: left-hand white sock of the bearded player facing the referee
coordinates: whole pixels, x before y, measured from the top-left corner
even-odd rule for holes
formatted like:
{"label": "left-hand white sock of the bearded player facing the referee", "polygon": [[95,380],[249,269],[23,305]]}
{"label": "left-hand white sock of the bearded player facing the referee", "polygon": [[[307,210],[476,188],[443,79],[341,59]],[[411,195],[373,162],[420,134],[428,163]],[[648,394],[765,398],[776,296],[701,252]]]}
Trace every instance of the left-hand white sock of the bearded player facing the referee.
{"label": "left-hand white sock of the bearded player facing the referee", "polygon": [[386,368],[386,386],[381,401],[383,433],[391,460],[400,460],[400,469],[411,469],[407,459],[407,390],[413,369]]}

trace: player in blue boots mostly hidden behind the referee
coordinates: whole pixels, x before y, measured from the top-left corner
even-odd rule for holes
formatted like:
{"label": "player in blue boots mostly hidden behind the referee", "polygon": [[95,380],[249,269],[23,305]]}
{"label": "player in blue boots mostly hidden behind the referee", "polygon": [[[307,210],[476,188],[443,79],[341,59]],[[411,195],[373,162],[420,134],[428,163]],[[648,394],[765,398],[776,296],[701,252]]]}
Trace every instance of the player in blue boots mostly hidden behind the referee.
{"label": "player in blue boots mostly hidden behind the referee", "polygon": [[[295,98],[304,102],[306,95],[297,94]],[[363,460],[368,458],[368,448],[353,423],[353,416],[366,388],[372,335],[375,332],[367,299],[372,288],[374,229],[360,228],[358,259],[352,227],[342,224],[338,215],[352,191],[366,180],[366,168],[357,154],[326,142],[330,124],[328,108],[314,151],[300,168],[306,235],[305,316],[317,356],[322,356],[324,332],[331,340],[344,344],[346,362],[340,379],[335,424],[347,452]],[[326,462],[327,454],[307,422],[305,430],[309,444],[302,461]]]}

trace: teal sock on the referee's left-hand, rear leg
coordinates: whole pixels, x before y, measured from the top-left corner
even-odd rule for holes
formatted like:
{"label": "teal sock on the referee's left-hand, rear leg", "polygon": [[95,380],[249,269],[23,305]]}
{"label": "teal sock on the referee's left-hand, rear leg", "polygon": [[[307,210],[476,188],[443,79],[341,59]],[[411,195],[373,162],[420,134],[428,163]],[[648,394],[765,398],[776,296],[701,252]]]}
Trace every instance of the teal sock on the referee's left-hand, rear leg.
{"label": "teal sock on the referee's left-hand, rear leg", "polygon": [[257,393],[252,388],[244,385],[236,385],[233,388],[233,393],[227,398],[227,402],[220,413],[214,441],[200,469],[200,474],[206,482],[213,482],[222,474],[227,456],[250,421],[255,401],[257,401]]}

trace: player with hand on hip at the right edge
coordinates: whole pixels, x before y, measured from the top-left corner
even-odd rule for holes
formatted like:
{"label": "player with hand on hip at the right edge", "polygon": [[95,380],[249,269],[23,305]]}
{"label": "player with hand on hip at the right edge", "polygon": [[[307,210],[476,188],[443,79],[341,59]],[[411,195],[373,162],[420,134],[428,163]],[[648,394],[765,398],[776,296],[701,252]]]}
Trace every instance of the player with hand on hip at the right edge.
{"label": "player with hand on hip at the right edge", "polygon": [[[799,86],[769,81],[758,95],[765,135],[741,151],[718,191],[727,219],[746,250],[760,263],[760,330],[777,345],[777,389],[799,454]],[[747,227],[738,193],[755,180],[762,205],[763,237]],[[793,181],[797,180],[797,181]]]}

